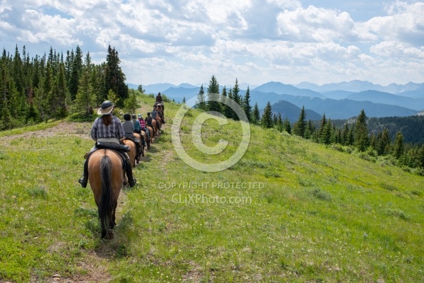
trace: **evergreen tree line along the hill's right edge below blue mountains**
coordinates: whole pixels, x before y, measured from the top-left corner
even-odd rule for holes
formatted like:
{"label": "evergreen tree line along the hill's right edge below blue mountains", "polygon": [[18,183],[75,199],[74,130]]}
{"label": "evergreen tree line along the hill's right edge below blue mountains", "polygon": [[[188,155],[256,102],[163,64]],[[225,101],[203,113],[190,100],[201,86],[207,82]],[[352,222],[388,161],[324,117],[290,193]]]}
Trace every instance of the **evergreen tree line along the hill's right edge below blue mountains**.
{"label": "evergreen tree line along the hill's right edge below blue mountains", "polygon": [[[394,163],[399,166],[409,168],[424,168],[424,144],[412,144],[404,141],[404,134],[397,131],[394,138],[391,138],[389,129],[386,127],[377,131],[377,127],[370,131],[367,123],[375,123],[375,119],[369,119],[365,110],[362,110],[353,121],[346,121],[343,125],[338,122],[338,127],[331,119],[327,119],[325,114],[317,126],[315,122],[306,119],[305,107],[300,110],[298,120],[291,125],[288,117],[283,120],[281,114],[272,112],[271,103],[267,103],[262,115],[259,112],[257,103],[254,107],[250,105],[249,87],[245,96],[240,96],[240,88],[237,79],[235,85],[228,91],[224,86],[220,92],[218,81],[215,76],[211,77],[206,94],[202,85],[197,95],[196,108],[201,110],[216,111],[233,120],[239,120],[237,113],[230,104],[231,98],[244,110],[250,123],[260,125],[266,129],[275,128],[280,132],[288,132],[296,136],[310,139],[319,144],[332,145],[335,149],[346,151],[359,151],[366,156],[388,156],[394,159]],[[388,118],[387,118],[388,119]],[[408,120],[408,118],[405,118]],[[399,129],[399,128],[398,128]],[[422,124],[416,127],[422,131]],[[393,131],[393,129],[391,129]],[[410,134],[408,132],[408,134]]]}

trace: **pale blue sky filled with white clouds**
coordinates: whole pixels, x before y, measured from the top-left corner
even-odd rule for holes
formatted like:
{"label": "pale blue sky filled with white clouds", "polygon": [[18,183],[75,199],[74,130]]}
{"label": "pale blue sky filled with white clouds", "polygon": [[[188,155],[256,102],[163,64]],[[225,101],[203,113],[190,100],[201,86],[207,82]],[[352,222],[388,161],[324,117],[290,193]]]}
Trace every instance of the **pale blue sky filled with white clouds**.
{"label": "pale blue sky filled with white clouds", "polygon": [[117,50],[126,83],[424,83],[414,0],[0,0],[6,52]]}

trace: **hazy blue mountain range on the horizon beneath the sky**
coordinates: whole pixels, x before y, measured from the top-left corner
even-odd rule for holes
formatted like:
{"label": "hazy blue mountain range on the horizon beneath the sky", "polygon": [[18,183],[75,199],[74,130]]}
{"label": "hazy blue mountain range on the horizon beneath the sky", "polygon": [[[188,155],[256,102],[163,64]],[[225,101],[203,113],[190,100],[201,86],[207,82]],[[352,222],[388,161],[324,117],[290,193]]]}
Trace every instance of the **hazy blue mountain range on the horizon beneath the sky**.
{"label": "hazy blue mountain range on the horizon beneath the sky", "polygon": [[[240,84],[240,95],[245,96],[247,86],[247,83],[243,83],[243,87]],[[138,85],[129,84],[129,87],[137,88]],[[189,83],[178,86],[155,83],[143,88],[146,93],[165,93],[177,102],[182,102],[183,98],[189,100],[196,97],[200,89]],[[273,112],[281,113],[283,119],[288,117],[292,122],[293,119],[297,120],[302,106],[310,111],[307,112],[307,120],[319,120],[324,114],[331,119],[348,119],[357,116],[363,109],[367,117],[405,117],[424,110],[424,83],[380,86],[369,81],[349,81],[318,86],[303,82],[293,86],[270,81],[249,88],[252,106],[257,103],[263,109],[269,101]],[[204,89],[206,93],[206,84]]]}

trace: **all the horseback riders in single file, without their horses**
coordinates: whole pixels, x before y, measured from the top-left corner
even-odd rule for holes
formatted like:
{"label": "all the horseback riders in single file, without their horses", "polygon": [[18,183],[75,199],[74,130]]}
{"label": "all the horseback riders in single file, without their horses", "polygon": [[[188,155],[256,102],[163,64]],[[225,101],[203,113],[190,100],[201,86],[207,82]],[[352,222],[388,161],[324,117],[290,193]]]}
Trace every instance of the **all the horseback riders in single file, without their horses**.
{"label": "all the horseback riders in single file, without their horses", "polygon": [[[143,119],[139,114],[138,119],[136,115],[130,115],[129,113],[124,114],[124,122],[121,123],[118,117],[112,115],[115,105],[106,100],[102,103],[101,108],[98,109],[98,115],[93,126],[91,127],[90,136],[96,141],[92,149],[86,154],[86,161],[84,163],[83,176],[78,180],[78,183],[82,187],[87,187],[88,183],[88,158],[90,154],[100,148],[115,149],[119,154],[124,157],[124,170],[126,178],[128,178],[129,187],[134,187],[137,180],[132,173],[132,164],[129,160],[128,147],[122,144],[124,139],[130,139],[136,144],[136,156],[141,154],[140,140],[134,135],[134,133],[141,134],[141,131],[146,132],[146,140],[151,140],[151,133],[148,127],[154,129],[154,125],[160,130],[160,122],[157,116],[160,117],[163,123],[165,123],[163,116],[163,101],[162,96],[158,93],[156,96],[156,102],[153,106],[152,112],[147,112],[146,119]],[[154,121],[155,120],[155,121]],[[142,139],[143,147],[146,146],[146,141]],[[143,154],[144,156],[144,154]]]}

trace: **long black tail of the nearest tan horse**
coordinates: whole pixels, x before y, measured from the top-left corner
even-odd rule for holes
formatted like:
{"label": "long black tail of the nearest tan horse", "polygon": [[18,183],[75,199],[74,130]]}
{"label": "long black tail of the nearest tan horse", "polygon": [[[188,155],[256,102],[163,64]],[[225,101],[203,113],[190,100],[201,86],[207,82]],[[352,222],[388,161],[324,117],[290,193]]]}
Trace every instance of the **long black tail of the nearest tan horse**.
{"label": "long black tail of the nearest tan horse", "polygon": [[100,178],[102,195],[100,195],[99,218],[103,233],[109,227],[109,214],[112,210],[112,161],[109,156],[103,156],[100,161]]}

